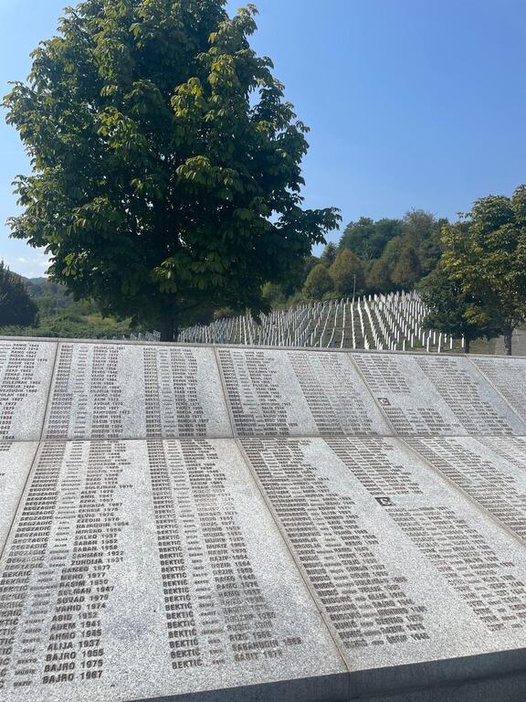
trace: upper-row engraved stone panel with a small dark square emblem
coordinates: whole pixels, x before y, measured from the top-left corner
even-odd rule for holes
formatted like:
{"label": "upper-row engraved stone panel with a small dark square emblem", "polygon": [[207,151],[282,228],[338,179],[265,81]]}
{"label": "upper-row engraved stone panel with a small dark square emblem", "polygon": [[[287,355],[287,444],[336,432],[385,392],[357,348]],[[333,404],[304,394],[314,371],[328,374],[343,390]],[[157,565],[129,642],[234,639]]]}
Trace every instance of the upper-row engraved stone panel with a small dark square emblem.
{"label": "upper-row engraved stone panel with a small dark square emblem", "polygon": [[355,354],[352,360],[397,434],[526,433],[526,425],[464,357]]}

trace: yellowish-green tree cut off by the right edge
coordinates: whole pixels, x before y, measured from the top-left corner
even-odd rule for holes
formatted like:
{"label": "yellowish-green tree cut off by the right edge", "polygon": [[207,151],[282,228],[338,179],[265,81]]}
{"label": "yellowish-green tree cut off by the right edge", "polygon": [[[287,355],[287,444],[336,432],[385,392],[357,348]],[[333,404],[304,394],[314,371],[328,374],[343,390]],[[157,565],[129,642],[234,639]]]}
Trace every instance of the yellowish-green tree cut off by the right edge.
{"label": "yellowish-green tree cut off by the right edge", "polygon": [[476,200],[458,224],[444,228],[442,265],[476,304],[474,324],[495,326],[511,354],[513,329],[526,320],[526,186],[512,197]]}

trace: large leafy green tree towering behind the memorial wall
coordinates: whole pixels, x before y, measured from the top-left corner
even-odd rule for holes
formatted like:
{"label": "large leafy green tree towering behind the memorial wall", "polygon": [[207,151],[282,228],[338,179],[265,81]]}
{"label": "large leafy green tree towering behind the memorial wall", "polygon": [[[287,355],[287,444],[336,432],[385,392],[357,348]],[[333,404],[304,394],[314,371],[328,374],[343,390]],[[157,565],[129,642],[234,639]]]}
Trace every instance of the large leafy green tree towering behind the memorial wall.
{"label": "large leafy green tree towering behind the memorial wall", "polygon": [[5,99],[32,159],[13,234],[106,313],[177,324],[216,306],[266,310],[264,282],[334,229],[301,207],[307,128],[225,0],[85,0]]}

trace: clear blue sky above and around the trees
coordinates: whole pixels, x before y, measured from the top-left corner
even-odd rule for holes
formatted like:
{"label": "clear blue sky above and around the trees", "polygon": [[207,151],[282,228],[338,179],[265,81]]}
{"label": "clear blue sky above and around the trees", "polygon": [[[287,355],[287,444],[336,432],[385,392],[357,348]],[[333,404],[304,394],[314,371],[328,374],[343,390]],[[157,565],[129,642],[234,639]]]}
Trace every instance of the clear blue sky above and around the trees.
{"label": "clear blue sky above and around the trees", "polygon": [[[255,3],[253,45],[312,130],[306,206],[340,207],[343,223],[410,207],[454,218],[476,197],[526,182],[524,0]],[[29,52],[66,4],[0,0],[2,94],[26,77]],[[0,154],[0,258],[41,275],[45,257],[4,225],[16,213],[11,181],[29,166],[3,121]]]}

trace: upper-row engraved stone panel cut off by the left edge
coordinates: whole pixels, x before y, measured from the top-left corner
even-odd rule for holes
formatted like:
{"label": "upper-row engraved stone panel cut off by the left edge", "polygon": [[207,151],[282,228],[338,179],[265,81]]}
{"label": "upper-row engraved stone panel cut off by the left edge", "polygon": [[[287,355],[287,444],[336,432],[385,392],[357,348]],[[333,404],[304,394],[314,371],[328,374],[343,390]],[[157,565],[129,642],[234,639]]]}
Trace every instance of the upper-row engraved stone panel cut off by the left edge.
{"label": "upper-row engraved stone panel cut off by the left edge", "polygon": [[0,340],[0,440],[38,441],[57,345]]}

